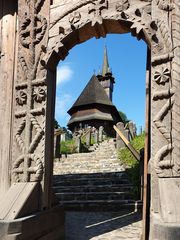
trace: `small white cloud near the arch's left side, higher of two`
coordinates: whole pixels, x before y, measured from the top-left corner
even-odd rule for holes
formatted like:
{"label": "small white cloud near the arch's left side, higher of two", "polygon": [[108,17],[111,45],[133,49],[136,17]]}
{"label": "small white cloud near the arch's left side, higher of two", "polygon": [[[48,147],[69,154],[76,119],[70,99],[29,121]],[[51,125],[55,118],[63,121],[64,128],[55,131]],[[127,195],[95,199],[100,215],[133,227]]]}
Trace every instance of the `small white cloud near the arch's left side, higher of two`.
{"label": "small white cloud near the arch's left side, higher of two", "polygon": [[73,70],[69,65],[57,67],[57,85],[70,81],[72,75]]}

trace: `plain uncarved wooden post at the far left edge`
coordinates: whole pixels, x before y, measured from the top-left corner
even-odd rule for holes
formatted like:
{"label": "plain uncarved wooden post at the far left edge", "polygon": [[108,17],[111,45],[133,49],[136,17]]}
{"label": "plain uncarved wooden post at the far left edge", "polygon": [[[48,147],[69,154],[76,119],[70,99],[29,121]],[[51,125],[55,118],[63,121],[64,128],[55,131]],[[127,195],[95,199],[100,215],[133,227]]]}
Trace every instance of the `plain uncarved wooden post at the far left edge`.
{"label": "plain uncarved wooden post at the far left edge", "polygon": [[10,187],[17,4],[0,1],[0,200]]}

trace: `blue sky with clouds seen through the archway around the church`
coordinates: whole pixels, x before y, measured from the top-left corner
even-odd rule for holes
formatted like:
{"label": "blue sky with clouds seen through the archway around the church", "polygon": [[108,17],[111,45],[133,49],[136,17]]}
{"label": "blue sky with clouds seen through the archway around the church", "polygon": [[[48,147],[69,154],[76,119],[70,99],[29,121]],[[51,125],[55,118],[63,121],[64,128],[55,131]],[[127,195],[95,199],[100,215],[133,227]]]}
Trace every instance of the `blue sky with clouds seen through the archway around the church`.
{"label": "blue sky with clouds seen through the archway around the church", "polygon": [[66,126],[68,109],[94,72],[102,69],[104,46],[115,77],[113,103],[139,129],[145,124],[145,75],[147,46],[130,34],[109,34],[76,45],[57,67],[55,118]]}

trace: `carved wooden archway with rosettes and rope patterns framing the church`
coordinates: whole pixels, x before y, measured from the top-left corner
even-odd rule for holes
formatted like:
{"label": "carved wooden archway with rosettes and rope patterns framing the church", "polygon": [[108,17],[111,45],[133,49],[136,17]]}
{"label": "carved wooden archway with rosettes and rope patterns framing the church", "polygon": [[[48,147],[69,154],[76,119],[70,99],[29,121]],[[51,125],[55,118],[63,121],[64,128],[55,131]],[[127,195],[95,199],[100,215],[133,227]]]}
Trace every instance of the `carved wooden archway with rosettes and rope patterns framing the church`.
{"label": "carved wooden archway with rosettes and rope patterns framing the church", "polygon": [[73,46],[94,36],[131,32],[151,49],[150,239],[178,239],[178,0],[19,0],[18,19],[11,186],[40,183],[41,209],[51,208],[56,65]]}

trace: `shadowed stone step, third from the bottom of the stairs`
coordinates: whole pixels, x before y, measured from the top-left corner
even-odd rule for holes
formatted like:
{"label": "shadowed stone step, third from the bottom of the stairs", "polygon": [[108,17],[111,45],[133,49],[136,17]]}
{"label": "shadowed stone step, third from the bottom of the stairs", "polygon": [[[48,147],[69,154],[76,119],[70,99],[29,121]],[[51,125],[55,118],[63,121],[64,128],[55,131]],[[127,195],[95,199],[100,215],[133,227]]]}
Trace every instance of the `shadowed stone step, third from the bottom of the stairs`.
{"label": "shadowed stone step, third from the bottom of the stairs", "polygon": [[[55,186],[53,187],[55,193],[73,193],[73,192],[131,192],[133,189],[132,184],[117,184],[112,185],[96,185],[96,186]],[[108,194],[108,193],[107,193]]]}

